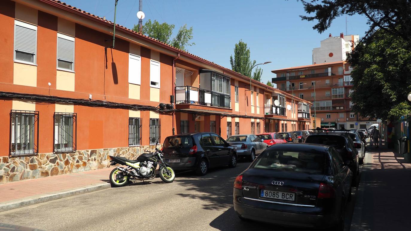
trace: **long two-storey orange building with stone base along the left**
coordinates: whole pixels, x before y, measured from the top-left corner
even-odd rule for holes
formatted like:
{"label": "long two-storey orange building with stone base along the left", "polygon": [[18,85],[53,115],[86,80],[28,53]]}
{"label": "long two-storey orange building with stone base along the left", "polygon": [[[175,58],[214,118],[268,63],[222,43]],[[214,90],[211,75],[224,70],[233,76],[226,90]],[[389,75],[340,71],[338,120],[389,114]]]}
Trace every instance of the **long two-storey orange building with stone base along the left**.
{"label": "long two-storey orange building with stone base along the left", "polygon": [[173,134],[310,126],[308,101],[120,25],[111,47],[113,23],[60,1],[2,0],[0,19],[0,183],[108,167]]}

